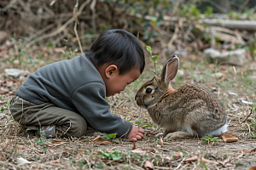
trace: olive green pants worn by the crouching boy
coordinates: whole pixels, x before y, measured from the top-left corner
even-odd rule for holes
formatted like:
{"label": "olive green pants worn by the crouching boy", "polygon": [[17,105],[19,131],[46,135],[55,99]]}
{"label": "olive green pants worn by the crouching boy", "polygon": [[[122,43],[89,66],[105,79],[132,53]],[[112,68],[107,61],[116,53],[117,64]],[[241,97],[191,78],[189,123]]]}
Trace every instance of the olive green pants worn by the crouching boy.
{"label": "olive green pants worn by the crouching boy", "polygon": [[41,126],[55,125],[57,136],[81,137],[87,123],[78,113],[68,111],[50,103],[35,105],[15,95],[9,110],[16,122],[26,127],[26,131],[38,131]]}

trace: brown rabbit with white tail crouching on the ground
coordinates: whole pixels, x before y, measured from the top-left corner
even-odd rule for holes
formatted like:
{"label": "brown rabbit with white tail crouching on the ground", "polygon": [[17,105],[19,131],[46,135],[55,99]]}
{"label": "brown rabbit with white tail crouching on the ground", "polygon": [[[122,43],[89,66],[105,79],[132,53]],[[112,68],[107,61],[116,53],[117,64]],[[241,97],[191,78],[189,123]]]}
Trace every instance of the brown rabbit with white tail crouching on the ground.
{"label": "brown rabbit with white tail crouching on the ground", "polygon": [[[218,136],[228,130],[227,116],[218,98],[207,88],[185,84],[172,88],[179,59],[173,55],[160,77],[145,82],[137,91],[137,105],[148,110],[153,122],[165,129],[166,140],[189,139],[197,135]],[[177,131],[177,130],[183,131]]]}

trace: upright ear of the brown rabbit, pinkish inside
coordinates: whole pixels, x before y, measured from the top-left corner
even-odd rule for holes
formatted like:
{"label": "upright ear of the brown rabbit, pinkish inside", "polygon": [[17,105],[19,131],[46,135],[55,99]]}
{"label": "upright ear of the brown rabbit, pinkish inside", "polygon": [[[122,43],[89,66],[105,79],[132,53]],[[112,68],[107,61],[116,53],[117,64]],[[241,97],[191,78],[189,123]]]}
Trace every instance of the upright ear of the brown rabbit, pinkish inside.
{"label": "upright ear of the brown rabbit, pinkish inside", "polygon": [[161,81],[162,82],[170,82],[177,75],[177,70],[179,66],[179,59],[177,55],[173,55],[164,66],[161,73]]}

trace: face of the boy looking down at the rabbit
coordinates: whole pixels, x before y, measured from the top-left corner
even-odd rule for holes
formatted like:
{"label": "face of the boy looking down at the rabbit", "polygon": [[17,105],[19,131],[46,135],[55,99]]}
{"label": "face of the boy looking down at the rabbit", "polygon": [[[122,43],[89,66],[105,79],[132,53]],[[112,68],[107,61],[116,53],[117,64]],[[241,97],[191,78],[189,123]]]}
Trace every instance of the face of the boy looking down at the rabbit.
{"label": "face of the boy looking down at the rabbit", "polygon": [[122,76],[119,75],[119,71],[113,72],[113,75],[105,82],[106,96],[109,97],[124,91],[126,85],[136,81],[140,75],[141,72],[138,69],[133,69]]}

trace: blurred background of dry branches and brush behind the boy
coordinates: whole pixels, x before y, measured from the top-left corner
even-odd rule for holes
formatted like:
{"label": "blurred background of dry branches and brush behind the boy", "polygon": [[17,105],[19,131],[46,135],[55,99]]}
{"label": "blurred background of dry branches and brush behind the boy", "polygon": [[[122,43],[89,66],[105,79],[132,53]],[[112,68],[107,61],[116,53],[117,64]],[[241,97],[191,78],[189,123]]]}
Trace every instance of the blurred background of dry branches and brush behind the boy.
{"label": "blurred background of dry branches and brush behind the boy", "polygon": [[[195,54],[215,62],[214,53],[242,48],[242,55],[254,60],[255,5],[253,0],[2,0],[0,65],[27,69],[32,63],[33,71],[41,60],[71,59],[88,51],[102,31],[115,28],[131,31],[159,59]],[[208,48],[212,51],[203,55]]]}

